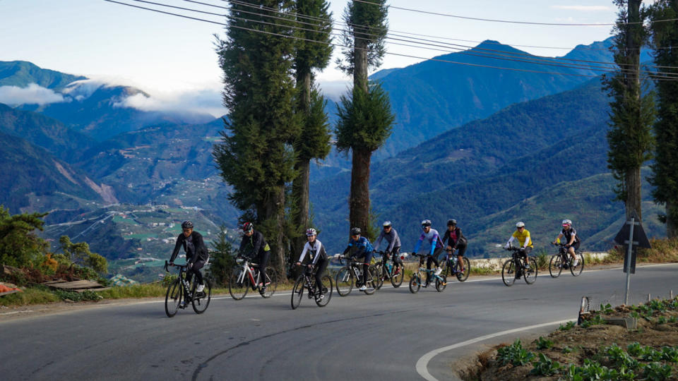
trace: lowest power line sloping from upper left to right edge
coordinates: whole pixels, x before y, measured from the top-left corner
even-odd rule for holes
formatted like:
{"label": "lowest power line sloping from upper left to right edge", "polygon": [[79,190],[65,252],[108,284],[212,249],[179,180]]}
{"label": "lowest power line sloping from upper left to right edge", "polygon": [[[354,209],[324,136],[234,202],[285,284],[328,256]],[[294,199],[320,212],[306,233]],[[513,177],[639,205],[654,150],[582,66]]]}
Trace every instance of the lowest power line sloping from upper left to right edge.
{"label": "lowest power line sloping from upper left to right edge", "polygon": [[[178,13],[160,11],[160,10],[154,9],[154,8],[147,8],[147,7],[143,7],[143,6],[136,6],[136,5],[133,5],[133,4],[126,4],[126,3],[123,3],[121,1],[115,1],[115,0],[104,0],[104,1],[114,3],[114,4],[124,5],[124,6],[130,6],[132,8],[139,8],[139,9],[143,9],[145,11],[153,11],[153,12],[157,12],[157,13],[163,13],[163,14],[166,14],[166,15],[169,15],[169,16],[177,16],[177,17],[181,17],[181,18],[187,18],[187,19],[190,19],[190,20],[197,20],[197,21],[203,21],[203,22],[206,22],[206,23],[212,23],[212,24],[215,24],[215,25],[223,25],[223,26],[226,26],[228,28],[237,28],[237,29],[241,29],[241,30],[249,30],[251,32],[263,33],[263,34],[266,34],[266,35],[275,35],[275,36],[278,36],[278,37],[292,38],[294,40],[316,42],[316,43],[319,43],[319,44],[328,44],[328,45],[332,45],[332,46],[335,46],[335,47],[351,48],[349,46],[342,45],[342,44],[335,44],[335,43],[332,43],[332,42],[316,41],[316,40],[311,40],[311,39],[307,39],[307,38],[303,38],[303,37],[297,37],[297,36],[292,36],[292,35],[284,35],[284,34],[281,34],[281,33],[269,32],[269,31],[266,31],[266,30],[257,30],[257,29],[253,29],[253,28],[245,28],[245,27],[242,27],[242,26],[239,26],[239,25],[229,25],[229,24],[226,24],[226,23],[220,23],[220,22],[213,21],[213,20],[206,20],[206,19],[203,19],[203,18],[196,18],[196,17],[186,16],[186,15],[182,15],[182,14],[178,14]],[[134,0],[134,1],[142,1],[142,2],[146,2],[146,3],[149,2],[149,1],[143,1],[143,0]],[[354,49],[358,49],[358,48],[354,48]],[[364,49],[364,50],[367,50],[367,49]],[[559,73],[559,72],[552,72],[552,71],[536,71],[536,70],[521,69],[521,68],[506,68],[506,67],[501,67],[501,66],[483,65],[483,64],[480,64],[480,63],[467,63],[467,62],[451,61],[451,60],[445,60],[445,59],[427,58],[427,57],[421,57],[421,56],[413,56],[413,55],[410,55],[410,54],[398,54],[398,53],[393,53],[393,52],[386,52],[386,54],[390,54],[390,55],[393,55],[393,56],[402,56],[402,57],[407,57],[407,58],[412,58],[412,59],[426,60],[426,61],[456,63],[456,64],[463,65],[463,66],[496,68],[496,69],[501,69],[501,70],[521,71],[521,72],[527,72],[527,73],[543,73],[543,74],[551,74],[551,75],[567,75],[567,76],[589,77],[589,78],[595,78],[595,77],[598,76],[598,75],[587,75],[587,74],[577,74],[577,73]],[[616,71],[609,71],[609,72],[614,73]],[[662,76],[659,76],[659,75],[654,75],[653,78],[657,78],[658,80],[673,80],[672,78],[663,78]]]}

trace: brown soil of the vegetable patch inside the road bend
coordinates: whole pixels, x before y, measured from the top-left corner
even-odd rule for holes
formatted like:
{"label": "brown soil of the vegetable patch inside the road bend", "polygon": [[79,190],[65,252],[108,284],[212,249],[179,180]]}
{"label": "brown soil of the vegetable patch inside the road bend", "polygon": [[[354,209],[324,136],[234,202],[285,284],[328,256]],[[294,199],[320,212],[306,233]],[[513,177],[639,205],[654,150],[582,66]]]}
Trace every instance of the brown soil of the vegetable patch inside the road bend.
{"label": "brown soil of the vegetable patch inside the road bend", "polygon": [[[676,299],[678,300],[678,299]],[[631,317],[634,311],[620,306],[614,308],[611,312],[600,313],[600,318],[604,320]],[[637,315],[636,315],[637,316]],[[570,364],[581,366],[585,359],[595,360],[600,365],[614,368],[614,363],[603,353],[607,347],[612,344],[622,349],[626,349],[629,344],[638,343],[641,346],[651,346],[654,349],[661,350],[662,346],[678,347],[678,310],[670,309],[663,312],[655,311],[647,320],[644,317],[637,317],[637,329],[627,329],[619,325],[596,324],[584,328],[581,326],[571,327],[571,329],[557,329],[551,334],[544,336],[553,342],[548,349],[537,349],[537,340],[523,341],[523,348],[526,351],[533,352],[535,357],[532,361],[538,359],[539,353],[552,361],[557,361],[561,365],[569,367]],[[468,361],[472,364],[464,369],[458,369],[458,376],[463,380],[563,380],[564,374],[552,376],[530,375],[533,370],[532,363],[513,366],[511,363],[502,365],[498,359],[498,349],[507,346],[499,344],[493,348],[477,353],[475,361]],[[664,362],[662,364],[672,365],[673,375],[666,380],[678,380],[678,364]]]}

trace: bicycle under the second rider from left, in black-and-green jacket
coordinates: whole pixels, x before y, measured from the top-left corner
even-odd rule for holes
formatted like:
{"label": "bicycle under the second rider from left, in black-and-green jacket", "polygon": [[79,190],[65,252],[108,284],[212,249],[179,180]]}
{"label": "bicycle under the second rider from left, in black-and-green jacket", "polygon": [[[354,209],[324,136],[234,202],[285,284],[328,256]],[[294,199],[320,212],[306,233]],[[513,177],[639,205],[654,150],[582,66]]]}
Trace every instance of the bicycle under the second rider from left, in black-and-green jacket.
{"label": "bicycle under the second rider from left, in black-and-green jacket", "polygon": [[[263,298],[270,298],[278,287],[278,275],[273,267],[266,267],[266,274],[261,276],[259,265],[249,262],[250,259],[238,255],[235,258],[237,265],[233,267],[231,275],[228,278],[228,293],[236,301],[241,300],[247,295],[251,288],[252,291],[259,291]],[[266,289],[259,286],[260,283],[266,285]]]}

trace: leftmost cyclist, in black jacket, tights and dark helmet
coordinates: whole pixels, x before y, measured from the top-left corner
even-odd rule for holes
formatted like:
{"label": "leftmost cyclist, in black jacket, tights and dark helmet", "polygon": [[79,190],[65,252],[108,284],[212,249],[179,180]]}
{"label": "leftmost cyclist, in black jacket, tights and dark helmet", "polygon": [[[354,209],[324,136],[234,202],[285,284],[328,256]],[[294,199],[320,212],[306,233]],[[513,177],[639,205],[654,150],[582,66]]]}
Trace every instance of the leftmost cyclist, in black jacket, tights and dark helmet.
{"label": "leftmost cyclist, in black jacket, tights and dark helmet", "polygon": [[182,234],[177,237],[172,257],[169,258],[169,265],[174,265],[174,260],[177,259],[177,254],[179,254],[182,246],[184,252],[186,252],[186,282],[191,283],[193,274],[196,274],[198,281],[196,293],[203,292],[205,284],[203,284],[203,274],[201,274],[200,269],[210,260],[210,254],[205,246],[202,234],[193,230],[193,222],[182,222]]}

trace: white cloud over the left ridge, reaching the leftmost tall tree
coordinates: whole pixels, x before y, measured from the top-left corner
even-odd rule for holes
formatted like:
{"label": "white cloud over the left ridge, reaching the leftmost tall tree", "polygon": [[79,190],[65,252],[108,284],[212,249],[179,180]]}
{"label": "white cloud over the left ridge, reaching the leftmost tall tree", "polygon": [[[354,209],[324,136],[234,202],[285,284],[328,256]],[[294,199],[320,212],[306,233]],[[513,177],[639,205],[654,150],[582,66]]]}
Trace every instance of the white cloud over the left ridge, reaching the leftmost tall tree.
{"label": "white cloud over the left ridge, reaching the leftmost tall tree", "polygon": [[147,97],[135,94],[114,104],[114,107],[132,107],[143,111],[196,112],[218,117],[227,113],[221,104],[220,90],[191,90],[168,92]]}

